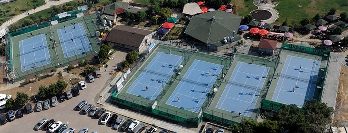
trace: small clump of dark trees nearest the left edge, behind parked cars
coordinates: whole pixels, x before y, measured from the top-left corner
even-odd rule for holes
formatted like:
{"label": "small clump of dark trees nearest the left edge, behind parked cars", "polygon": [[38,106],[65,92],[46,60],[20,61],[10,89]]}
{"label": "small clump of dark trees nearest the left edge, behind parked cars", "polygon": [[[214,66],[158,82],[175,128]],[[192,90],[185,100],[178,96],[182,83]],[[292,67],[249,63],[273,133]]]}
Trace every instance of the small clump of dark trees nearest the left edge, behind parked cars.
{"label": "small clump of dark trees nearest the left edge, behind parked cars", "polygon": [[16,98],[7,99],[5,106],[8,109],[14,109],[15,105],[18,105],[19,107],[23,107],[28,101],[29,101],[28,94],[25,94],[23,92],[17,92]]}

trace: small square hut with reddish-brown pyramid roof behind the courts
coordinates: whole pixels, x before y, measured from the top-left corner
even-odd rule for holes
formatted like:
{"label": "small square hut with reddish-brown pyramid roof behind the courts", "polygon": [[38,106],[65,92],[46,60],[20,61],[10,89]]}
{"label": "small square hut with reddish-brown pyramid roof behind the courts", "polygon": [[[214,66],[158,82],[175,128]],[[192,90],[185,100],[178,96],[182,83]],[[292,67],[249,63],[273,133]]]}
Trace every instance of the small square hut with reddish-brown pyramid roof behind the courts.
{"label": "small square hut with reddish-brown pyramid roof behind the courts", "polygon": [[274,50],[277,48],[277,41],[268,40],[261,38],[260,43],[258,44],[258,52],[267,55],[273,55]]}

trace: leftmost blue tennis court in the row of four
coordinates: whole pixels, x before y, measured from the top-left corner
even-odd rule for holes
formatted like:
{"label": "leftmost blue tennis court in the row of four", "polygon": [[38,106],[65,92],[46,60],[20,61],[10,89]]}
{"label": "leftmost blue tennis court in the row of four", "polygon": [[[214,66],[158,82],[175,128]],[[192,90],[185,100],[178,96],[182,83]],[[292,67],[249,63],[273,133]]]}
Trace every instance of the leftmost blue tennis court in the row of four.
{"label": "leftmost blue tennis court in the row of four", "polygon": [[[154,100],[165,83],[174,74],[184,57],[158,52],[153,60],[136,78],[127,93]],[[147,89],[146,89],[147,87]]]}

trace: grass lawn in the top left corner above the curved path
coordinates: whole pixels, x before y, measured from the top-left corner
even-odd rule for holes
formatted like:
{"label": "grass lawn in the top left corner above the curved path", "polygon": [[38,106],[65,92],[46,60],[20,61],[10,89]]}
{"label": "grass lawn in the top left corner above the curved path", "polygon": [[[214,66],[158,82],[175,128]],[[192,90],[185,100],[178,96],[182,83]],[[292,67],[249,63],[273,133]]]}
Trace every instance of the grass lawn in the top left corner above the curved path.
{"label": "grass lawn in the top left corner above the curved path", "polygon": [[[33,1],[36,1],[35,3]],[[27,5],[26,3],[29,3]],[[0,21],[6,22],[7,20],[11,19],[12,17],[21,14],[23,12],[26,12],[27,10],[31,10],[34,8],[34,6],[39,7],[41,5],[44,5],[44,0],[17,0],[9,3],[5,3],[0,5],[0,9],[5,13],[1,13],[0,15]],[[16,11],[17,10],[17,11]]]}

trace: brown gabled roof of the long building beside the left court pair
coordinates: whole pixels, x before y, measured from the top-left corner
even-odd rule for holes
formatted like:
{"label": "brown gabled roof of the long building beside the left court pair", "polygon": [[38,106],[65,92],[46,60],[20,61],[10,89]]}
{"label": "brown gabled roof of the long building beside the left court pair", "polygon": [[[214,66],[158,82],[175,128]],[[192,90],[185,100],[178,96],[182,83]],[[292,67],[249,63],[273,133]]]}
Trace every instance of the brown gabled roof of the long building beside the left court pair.
{"label": "brown gabled roof of the long building beside the left court pair", "polygon": [[134,28],[126,25],[117,25],[107,34],[105,41],[139,47],[145,36],[152,31]]}

